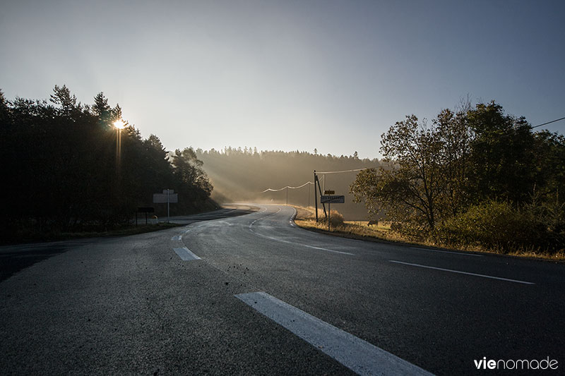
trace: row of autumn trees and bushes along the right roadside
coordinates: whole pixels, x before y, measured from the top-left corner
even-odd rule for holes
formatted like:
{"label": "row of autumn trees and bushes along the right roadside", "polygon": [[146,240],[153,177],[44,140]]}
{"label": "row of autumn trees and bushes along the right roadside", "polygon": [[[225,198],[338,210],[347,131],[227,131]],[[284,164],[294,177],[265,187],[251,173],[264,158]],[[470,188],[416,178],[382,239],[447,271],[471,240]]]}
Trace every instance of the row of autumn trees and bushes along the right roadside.
{"label": "row of autumn trees and bushes along the right roadside", "polygon": [[[406,116],[383,133],[379,169],[350,190],[411,238],[500,252],[565,248],[565,137],[496,102]],[[561,193],[561,198],[559,194]]]}

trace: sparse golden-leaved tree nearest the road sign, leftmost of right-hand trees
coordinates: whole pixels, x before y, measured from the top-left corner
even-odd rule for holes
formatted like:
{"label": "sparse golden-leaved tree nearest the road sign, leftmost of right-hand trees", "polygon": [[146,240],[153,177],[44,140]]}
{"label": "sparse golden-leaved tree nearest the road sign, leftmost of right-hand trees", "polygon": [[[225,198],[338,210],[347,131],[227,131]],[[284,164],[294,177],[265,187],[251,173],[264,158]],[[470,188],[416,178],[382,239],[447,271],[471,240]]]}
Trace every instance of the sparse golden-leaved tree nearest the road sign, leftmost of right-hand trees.
{"label": "sparse golden-leaved tree nearest the road sign, leftmost of right-hand trees", "polygon": [[406,116],[382,135],[381,154],[388,168],[362,171],[350,188],[355,200],[379,208],[393,222],[415,224],[410,230],[427,226],[433,233],[445,190],[441,148],[437,128]]}

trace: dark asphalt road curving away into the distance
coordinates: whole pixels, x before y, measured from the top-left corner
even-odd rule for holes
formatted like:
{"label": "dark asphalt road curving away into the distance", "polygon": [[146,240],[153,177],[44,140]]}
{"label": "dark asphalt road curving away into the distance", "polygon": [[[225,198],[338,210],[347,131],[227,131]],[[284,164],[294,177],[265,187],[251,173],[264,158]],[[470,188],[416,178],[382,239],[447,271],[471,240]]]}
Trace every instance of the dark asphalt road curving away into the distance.
{"label": "dark asphalt road curving away into the distance", "polygon": [[484,357],[563,372],[565,265],[335,238],[256,207],[1,247],[3,267],[58,250],[4,273],[2,374],[492,373]]}

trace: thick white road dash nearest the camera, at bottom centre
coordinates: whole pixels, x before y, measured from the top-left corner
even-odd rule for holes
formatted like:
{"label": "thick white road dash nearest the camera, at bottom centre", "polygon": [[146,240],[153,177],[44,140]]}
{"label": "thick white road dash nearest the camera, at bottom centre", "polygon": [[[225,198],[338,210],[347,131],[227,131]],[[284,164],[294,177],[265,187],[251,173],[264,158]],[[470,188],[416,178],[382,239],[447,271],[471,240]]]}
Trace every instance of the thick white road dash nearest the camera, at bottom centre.
{"label": "thick white road dash nearest the camera, at bottom centre", "polygon": [[268,293],[240,293],[235,297],[359,375],[431,375]]}

